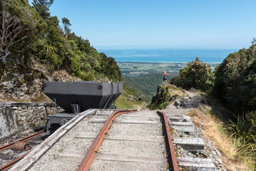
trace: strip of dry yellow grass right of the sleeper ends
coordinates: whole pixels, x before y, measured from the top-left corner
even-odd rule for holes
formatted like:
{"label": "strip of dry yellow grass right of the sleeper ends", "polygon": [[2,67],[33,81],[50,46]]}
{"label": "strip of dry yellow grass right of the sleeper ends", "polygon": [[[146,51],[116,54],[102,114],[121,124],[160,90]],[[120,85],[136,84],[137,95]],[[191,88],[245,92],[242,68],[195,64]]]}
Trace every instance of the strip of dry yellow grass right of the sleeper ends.
{"label": "strip of dry yellow grass right of the sleeper ends", "polygon": [[236,156],[239,155],[237,148],[232,139],[222,130],[222,122],[214,115],[207,113],[208,109],[209,107],[206,107],[204,111],[194,109],[187,115],[191,117],[191,121],[197,128],[203,128],[201,132],[205,138],[215,144],[215,147],[221,153],[221,160],[227,170],[231,171],[234,170],[234,167],[237,167],[237,170],[249,171],[249,167],[236,160]]}

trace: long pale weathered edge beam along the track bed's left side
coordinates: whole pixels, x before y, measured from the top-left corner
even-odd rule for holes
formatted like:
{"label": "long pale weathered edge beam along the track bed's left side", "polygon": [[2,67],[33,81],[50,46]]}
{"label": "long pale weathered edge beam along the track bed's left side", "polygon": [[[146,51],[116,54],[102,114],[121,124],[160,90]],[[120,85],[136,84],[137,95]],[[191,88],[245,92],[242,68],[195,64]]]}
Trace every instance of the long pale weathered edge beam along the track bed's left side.
{"label": "long pale weathered edge beam along the track bed's left side", "polygon": [[73,119],[69,120],[68,123],[61,126],[61,128],[58,128],[56,132],[54,132],[51,136],[46,138],[39,146],[34,148],[31,152],[29,152],[29,155],[26,155],[21,161],[16,163],[14,167],[11,167],[9,171],[23,171],[28,170],[31,165],[34,165],[34,163],[39,160],[39,158],[47,152],[63,135],[65,135],[68,130],[73,128],[76,123],[80,122],[83,118],[85,118],[87,115],[93,115],[96,114],[96,109],[88,109],[84,111],[83,113],[79,113],[76,115]]}

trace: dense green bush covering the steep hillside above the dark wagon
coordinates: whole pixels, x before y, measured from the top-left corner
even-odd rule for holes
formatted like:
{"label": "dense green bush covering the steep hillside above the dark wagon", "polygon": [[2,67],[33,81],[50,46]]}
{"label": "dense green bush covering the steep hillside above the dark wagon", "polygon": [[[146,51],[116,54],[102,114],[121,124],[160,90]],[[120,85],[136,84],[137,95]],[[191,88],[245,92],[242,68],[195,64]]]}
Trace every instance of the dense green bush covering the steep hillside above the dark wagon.
{"label": "dense green bush covering the steep hillside above the dark wagon", "polygon": [[[0,33],[17,34],[12,37],[14,42],[17,41],[14,45],[7,47],[10,42],[0,42],[2,61],[5,62],[10,53],[13,56],[25,56],[27,59],[33,56],[36,61],[46,66],[48,73],[66,69],[71,75],[86,81],[100,77],[121,81],[121,71],[114,58],[98,53],[87,39],[71,33],[68,19],[64,17],[62,24],[59,24],[58,18],[51,16],[49,7],[53,0],[34,0],[32,4],[34,6],[30,6],[28,1],[18,0],[0,2],[0,22],[8,17],[12,19],[10,22],[18,22],[15,26],[0,28]],[[6,61],[9,62],[8,58]],[[23,59],[19,61],[23,62]]]}

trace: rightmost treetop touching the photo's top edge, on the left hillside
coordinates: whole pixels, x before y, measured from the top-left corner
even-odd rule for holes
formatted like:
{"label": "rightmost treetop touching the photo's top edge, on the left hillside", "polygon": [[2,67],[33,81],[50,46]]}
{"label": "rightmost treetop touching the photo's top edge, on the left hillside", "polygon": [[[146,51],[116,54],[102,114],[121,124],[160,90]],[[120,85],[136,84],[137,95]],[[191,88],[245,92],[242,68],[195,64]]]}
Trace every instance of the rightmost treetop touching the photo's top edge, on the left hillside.
{"label": "rightmost treetop touching the photo's top edge, on the left hillside", "polygon": [[53,4],[53,0],[33,0],[34,8],[44,20],[50,17],[49,8]]}

